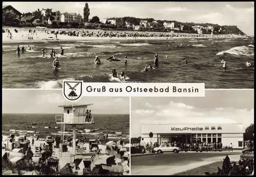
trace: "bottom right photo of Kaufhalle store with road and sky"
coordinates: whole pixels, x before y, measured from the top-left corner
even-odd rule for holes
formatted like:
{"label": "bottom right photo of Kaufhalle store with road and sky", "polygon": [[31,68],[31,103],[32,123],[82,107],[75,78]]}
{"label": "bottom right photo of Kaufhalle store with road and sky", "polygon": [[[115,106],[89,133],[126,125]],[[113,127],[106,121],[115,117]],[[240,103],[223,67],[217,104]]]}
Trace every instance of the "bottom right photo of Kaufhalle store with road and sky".
{"label": "bottom right photo of Kaufhalle store with road and sky", "polygon": [[254,174],[254,90],[131,98],[131,174]]}

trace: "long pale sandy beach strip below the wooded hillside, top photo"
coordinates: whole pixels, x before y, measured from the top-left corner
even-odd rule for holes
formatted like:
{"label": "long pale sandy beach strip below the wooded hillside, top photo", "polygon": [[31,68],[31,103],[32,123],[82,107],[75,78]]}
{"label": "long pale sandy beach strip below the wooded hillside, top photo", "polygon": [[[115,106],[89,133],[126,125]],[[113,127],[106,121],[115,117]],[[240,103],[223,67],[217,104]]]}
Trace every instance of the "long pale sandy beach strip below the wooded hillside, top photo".
{"label": "long pale sandy beach strip below the wooded hillside, top photo", "polygon": [[[12,28],[12,27],[4,27],[3,30],[10,30],[12,33],[12,39],[8,38],[8,33],[3,33],[3,44],[8,43],[21,43],[21,42],[47,42],[47,41],[97,41],[97,40],[135,40],[133,37],[82,37],[82,36],[68,36],[68,35],[57,35],[57,39],[55,39],[54,34],[47,34],[51,31],[71,31],[71,32],[103,32],[102,30],[87,30],[87,29],[37,29],[37,28]],[[16,33],[14,30],[17,30]],[[29,30],[36,30],[36,34],[31,35]],[[116,32],[116,31],[113,31]],[[134,33],[134,31],[120,31],[120,33]],[[155,33],[160,34],[160,32],[138,32],[142,33]],[[170,33],[161,33],[161,34],[170,34]],[[173,33],[173,35],[180,35],[179,37],[168,37],[167,40],[172,39],[205,39],[205,38],[247,38],[246,36],[238,36],[238,35],[203,35],[196,36],[197,34],[185,34],[185,33]],[[185,36],[187,35],[187,36]],[[194,36],[191,36],[194,35]],[[28,36],[33,36],[33,39],[28,39]],[[189,37],[191,36],[191,37]],[[166,40],[166,37],[137,37],[136,40]]]}

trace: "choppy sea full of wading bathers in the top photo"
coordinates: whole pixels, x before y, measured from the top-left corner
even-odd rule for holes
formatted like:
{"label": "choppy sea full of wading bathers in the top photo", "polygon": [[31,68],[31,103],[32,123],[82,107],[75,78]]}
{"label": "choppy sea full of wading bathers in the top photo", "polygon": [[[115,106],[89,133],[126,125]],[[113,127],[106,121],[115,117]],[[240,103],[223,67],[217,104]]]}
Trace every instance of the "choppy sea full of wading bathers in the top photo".
{"label": "choppy sea full of wading bathers in the top photo", "polygon": [[[20,48],[30,45],[33,50],[16,55]],[[177,47],[179,45],[185,47]],[[59,56],[59,49],[65,50]],[[218,47],[219,51],[216,51]],[[42,57],[41,49],[51,48],[58,53],[61,69],[53,70],[53,59]],[[154,63],[159,55],[159,66],[148,72],[141,70]],[[115,55],[120,61],[106,60]],[[101,65],[95,65],[98,56]],[[127,56],[127,64],[124,57]],[[83,82],[123,82],[113,78],[112,69],[124,71],[125,82],[132,83],[205,83],[211,89],[254,88],[253,39],[166,39],[166,40],[101,40],[45,41],[3,44],[3,88],[62,87],[62,80]],[[188,63],[182,61],[188,58]],[[222,70],[221,60],[227,70]],[[245,63],[250,60],[252,67]]]}

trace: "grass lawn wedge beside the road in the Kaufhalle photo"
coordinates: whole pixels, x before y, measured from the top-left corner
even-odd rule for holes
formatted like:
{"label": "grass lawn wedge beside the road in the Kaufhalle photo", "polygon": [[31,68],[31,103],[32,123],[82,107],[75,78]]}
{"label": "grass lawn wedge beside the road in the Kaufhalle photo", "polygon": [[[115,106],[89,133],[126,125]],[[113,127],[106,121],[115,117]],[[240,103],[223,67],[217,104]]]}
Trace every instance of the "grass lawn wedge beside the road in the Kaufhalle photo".
{"label": "grass lawn wedge beside the road in the Kaufhalle photo", "polygon": [[217,167],[221,168],[222,163],[223,163],[223,161],[219,161],[219,162],[215,162],[215,163],[212,163],[209,165],[204,165],[204,166],[201,166],[198,168],[187,170],[187,171],[184,171],[181,173],[176,173],[174,175],[205,175],[204,172],[206,172],[206,171],[211,174],[212,172],[215,172],[215,171],[217,172],[218,171]]}

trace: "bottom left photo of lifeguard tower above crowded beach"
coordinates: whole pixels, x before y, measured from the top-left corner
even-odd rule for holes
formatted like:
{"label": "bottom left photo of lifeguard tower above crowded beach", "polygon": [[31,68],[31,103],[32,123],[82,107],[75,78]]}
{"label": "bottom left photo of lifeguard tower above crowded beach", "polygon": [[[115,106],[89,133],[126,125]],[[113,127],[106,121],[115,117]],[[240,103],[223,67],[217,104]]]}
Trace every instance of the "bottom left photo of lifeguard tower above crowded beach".
{"label": "bottom left photo of lifeguard tower above crowded beach", "polygon": [[130,98],[2,90],[3,175],[130,175]]}

